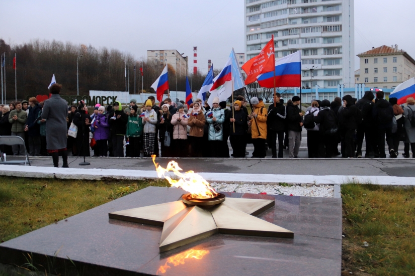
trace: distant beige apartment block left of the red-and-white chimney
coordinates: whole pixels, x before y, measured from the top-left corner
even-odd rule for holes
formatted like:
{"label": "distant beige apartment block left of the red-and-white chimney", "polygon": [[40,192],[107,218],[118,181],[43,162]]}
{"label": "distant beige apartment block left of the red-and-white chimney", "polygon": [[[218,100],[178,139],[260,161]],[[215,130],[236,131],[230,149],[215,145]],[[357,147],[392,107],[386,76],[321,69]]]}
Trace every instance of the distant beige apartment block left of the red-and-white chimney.
{"label": "distant beige apartment block left of the red-and-white chimney", "polygon": [[162,67],[171,64],[181,76],[187,75],[189,66],[189,57],[183,55],[177,50],[147,50],[148,60],[156,60]]}

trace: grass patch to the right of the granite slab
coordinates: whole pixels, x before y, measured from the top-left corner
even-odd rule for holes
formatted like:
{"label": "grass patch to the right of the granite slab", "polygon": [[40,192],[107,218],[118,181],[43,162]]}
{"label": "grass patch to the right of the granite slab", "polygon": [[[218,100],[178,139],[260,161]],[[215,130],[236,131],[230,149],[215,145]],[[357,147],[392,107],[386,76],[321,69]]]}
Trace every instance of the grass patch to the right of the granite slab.
{"label": "grass patch to the right of the granite slab", "polygon": [[415,275],[415,189],[343,185],[343,275]]}

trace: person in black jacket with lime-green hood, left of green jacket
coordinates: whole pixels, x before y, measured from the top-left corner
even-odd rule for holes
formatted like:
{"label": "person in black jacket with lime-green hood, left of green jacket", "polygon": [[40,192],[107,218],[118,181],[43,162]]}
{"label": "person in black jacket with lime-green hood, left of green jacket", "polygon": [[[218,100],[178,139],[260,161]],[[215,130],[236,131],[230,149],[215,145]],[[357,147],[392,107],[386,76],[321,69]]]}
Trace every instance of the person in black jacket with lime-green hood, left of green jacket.
{"label": "person in black jacket with lime-green hood, left of green jacket", "polygon": [[114,157],[124,157],[124,135],[128,115],[122,111],[120,102],[114,102],[114,111],[108,115],[108,121],[110,123]]}

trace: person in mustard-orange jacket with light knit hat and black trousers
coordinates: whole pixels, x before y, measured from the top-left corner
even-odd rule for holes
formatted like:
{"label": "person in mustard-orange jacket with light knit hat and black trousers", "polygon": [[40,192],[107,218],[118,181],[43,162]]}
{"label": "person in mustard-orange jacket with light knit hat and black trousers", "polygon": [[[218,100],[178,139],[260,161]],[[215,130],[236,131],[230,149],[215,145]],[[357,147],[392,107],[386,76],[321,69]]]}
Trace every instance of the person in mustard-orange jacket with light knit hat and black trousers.
{"label": "person in mustard-orange jacket with light knit hat and black trousers", "polygon": [[251,158],[265,158],[267,156],[265,143],[267,141],[268,112],[261,98],[253,97],[251,100],[254,110],[248,115],[248,124],[251,125],[252,144],[254,152]]}

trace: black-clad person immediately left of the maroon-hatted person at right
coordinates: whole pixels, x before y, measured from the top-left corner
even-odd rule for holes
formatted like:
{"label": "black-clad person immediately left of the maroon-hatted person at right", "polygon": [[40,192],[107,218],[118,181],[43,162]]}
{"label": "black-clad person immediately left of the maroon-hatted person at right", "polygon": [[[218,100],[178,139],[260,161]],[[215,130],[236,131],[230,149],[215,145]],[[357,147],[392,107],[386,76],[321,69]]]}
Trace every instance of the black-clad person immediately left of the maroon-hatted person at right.
{"label": "black-clad person immediately left of the maroon-hatted person at right", "polygon": [[373,107],[373,119],[376,124],[376,137],[375,141],[379,151],[380,158],[386,158],[385,153],[385,134],[386,134],[386,143],[389,148],[389,155],[391,158],[396,158],[397,155],[393,149],[393,140],[392,140],[392,119],[395,115],[393,113],[393,107],[390,103],[383,99],[383,91],[376,92],[377,102]]}

